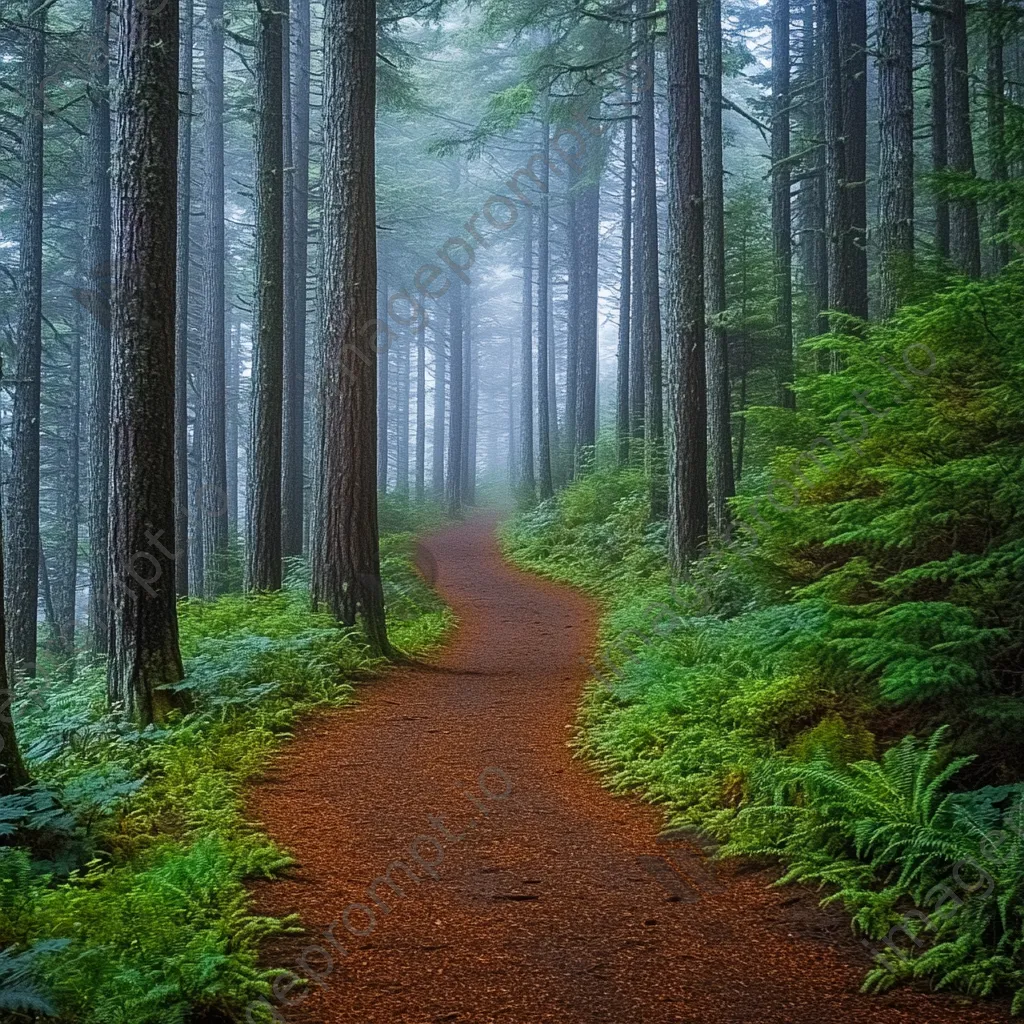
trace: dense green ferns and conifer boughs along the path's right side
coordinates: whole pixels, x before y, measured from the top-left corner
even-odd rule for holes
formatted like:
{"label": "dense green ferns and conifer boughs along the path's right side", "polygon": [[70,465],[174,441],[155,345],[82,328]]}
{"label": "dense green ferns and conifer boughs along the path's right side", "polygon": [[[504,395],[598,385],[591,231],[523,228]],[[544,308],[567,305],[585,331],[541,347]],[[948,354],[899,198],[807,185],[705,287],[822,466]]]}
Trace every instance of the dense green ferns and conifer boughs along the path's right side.
{"label": "dense green ferns and conifer boughs along the path's right side", "polygon": [[[750,410],[734,529],[669,580],[647,484],[602,471],[505,529],[608,608],[578,737],[616,790],[777,858],[927,979],[1024,1010],[1024,267],[808,344]],[[919,737],[928,737],[925,739]]]}

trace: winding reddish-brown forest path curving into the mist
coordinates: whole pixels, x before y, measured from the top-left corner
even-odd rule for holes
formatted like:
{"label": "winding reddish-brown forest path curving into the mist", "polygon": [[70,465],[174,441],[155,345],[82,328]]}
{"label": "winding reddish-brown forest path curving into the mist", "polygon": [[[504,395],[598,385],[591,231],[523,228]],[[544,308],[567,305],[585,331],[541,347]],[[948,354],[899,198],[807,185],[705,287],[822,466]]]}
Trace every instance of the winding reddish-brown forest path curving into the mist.
{"label": "winding reddish-brown forest path curving into the mist", "polygon": [[[868,957],[842,918],[658,840],[655,810],[602,790],[566,745],[597,610],[507,565],[494,527],[475,518],[425,544],[460,620],[451,644],[311,719],[253,795],[299,861],[257,886],[259,908],[297,911],[309,933],[273,962],[319,979],[280,993],[279,1019],[1006,1019],[907,990],[860,995]],[[393,887],[368,895],[389,865]]]}

